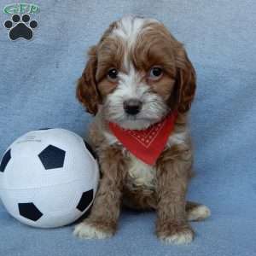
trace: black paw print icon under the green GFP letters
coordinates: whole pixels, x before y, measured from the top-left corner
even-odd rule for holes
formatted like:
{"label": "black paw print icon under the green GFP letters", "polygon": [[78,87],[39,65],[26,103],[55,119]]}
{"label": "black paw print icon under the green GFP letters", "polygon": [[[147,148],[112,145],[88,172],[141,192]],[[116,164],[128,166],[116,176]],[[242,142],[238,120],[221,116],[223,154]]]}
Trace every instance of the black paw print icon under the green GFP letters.
{"label": "black paw print icon under the green GFP letters", "polygon": [[33,37],[33,29],[38,27],[37,20],[30,20],[30,15],[13,15],[12,20],[5,20],[3,24],[9,29],[9,38],[15,41],[18,38],[30,40]]}

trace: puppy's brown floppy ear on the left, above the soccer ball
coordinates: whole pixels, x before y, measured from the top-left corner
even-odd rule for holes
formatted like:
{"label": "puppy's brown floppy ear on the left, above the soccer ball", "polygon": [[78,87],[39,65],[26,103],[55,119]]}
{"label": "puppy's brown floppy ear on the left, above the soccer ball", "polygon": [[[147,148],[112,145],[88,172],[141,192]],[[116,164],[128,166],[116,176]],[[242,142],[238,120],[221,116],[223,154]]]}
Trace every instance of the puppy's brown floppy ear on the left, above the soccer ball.
{"label": "puppy's brown floppy ear on the left, above the soccer ball", "polygon": [[96,46],[93,46],[89,53],[89,60],[87,61],[84,72],[80,77],[77,85],[77,98],[82,102],[87,112],[96,115],[98,105],[101,102],[99,92],[96,87]]}

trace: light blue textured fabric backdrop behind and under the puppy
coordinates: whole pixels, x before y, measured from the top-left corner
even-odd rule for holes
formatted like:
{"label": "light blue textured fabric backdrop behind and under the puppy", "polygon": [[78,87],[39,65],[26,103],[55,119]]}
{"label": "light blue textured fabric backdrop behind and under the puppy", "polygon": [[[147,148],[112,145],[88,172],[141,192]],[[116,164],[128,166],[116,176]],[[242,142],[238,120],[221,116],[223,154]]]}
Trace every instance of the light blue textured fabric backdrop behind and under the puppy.
{"label": "light blue textured fabric backdrop behind and under the puppy", "polygon": [[[0,9],[13,1],[0,0]],[[182,41],[198,75],[191,113],[195,169],[189,199],[212,209],[194,223],[189,246],[163,246],[154,213],[125,212],[111,240],[79,241],[73,226],[36,230],[0,203],[0,255],[256,255],[256,2],[36,1],[31,42],[11,42],[0,14],[0,154],[32,129],[86,133],[90,116],[74,97],[85,52],[125,14],[162,20]]]}

